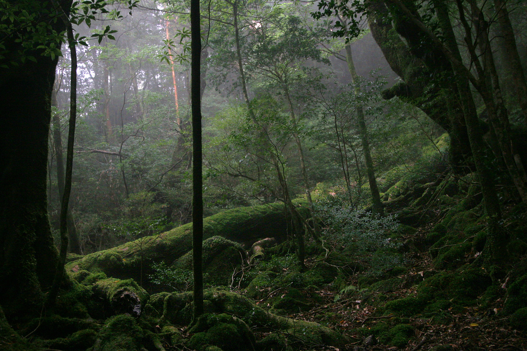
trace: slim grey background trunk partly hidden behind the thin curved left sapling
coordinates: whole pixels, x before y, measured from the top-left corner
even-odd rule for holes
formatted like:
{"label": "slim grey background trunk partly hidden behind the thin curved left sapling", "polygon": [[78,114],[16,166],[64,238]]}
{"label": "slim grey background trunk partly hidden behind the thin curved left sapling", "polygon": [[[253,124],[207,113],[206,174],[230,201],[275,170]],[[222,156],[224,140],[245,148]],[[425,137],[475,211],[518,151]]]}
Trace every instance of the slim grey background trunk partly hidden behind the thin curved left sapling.
{"label": "slim grey background trunk partly hidden behind the thin curved left sapling", "polygon": [[[51,105],[58,107],[57,104],[57,95],[55,88],[53,89],[51,97]],[[55,149],[55,158],[57,162],[57,188],[58,188],[58,198],[61,199],[64,196],[64,163],[62,157],[62,136],[61,136],[61,123],[58,117],[58,114],[53,114],[53,148]],[[75,220],[73,214],[71,213],[71,208],[68,207],[67,214],[67,232],[69,237],[69,249],[70,252],[75,254],[81,254],[81,244],[79,242],[79,234],[77,233],[77,228],[75,227]]]}

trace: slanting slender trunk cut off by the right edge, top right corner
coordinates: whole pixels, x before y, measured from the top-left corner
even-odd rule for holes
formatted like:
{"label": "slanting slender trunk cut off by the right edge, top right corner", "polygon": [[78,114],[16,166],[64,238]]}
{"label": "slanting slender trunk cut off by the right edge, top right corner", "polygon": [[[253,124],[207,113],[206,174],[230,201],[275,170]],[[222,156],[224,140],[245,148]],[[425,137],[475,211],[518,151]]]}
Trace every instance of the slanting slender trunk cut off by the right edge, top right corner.
{"label": "slanting slender trunk cut off by the right edge, top right corner", "polygon": [[513,85],[516,90],[516,97],[518,97],[523,118],[525,118],[525,122],[527,123],[527,83],[525,81],[520,55],[518,54],[518,47],[516,47],[516,39],[514,38],[514,31],[509,19],[509,12],[507,11],[505,3],[506,1],[504,0],[494,0],[494,9],[496,10],[497,23],[503,36],[501,43],[503,43],[503,54],[507,62],[506,66],[511,73]]}

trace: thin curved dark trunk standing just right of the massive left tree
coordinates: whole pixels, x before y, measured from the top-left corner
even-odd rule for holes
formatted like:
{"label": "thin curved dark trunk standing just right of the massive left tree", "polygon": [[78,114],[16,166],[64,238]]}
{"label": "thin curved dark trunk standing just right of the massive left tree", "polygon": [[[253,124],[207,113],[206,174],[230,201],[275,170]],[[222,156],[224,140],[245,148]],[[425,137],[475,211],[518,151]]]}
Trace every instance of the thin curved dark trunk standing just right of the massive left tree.
{"label": "thin curved dark trunk standing just right of the massive left tree", "polygon": [[[67,21],[67,17],[65,18]],[[66,263],[66,253],[68,246],[67,236],[67,212],[70,204],[71,193],[71,175],[73,170],[73,144],[75,142],[75,121],[77,117],[77,53],[75,47],[75,38],[73,36],[73,28],[69,21],[67,26],[67,41],[70,47],[71,54],[71,87],[70,87],[70,123],[69,133],[67,137],[67,154],[66,154],[66,173],[64,178],[64,193],[62,196],[61,214],[60,214],[60,234],[61,234],[61,250],[58,259],[55,277],[53,278],[53,285],[47,297],[50,304],[55,303],[55,299],[60,288],[62,277],[64,276],[64,264]]]}

